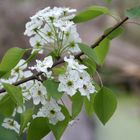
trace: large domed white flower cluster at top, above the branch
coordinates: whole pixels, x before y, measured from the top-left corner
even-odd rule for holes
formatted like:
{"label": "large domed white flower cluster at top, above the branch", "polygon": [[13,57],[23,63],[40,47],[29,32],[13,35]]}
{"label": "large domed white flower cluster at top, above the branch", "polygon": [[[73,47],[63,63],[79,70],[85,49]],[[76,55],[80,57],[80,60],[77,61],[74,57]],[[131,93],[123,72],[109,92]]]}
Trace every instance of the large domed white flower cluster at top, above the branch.
{"label": "large domed white flower cluster at top, above the branch", "polygon": [[30,37],[33,51],[55,50],[58,56],[65,52],[79,52],[77,43],[81,39],[72,21],[75,12],[75,9],[47,7],[32,16],[24,35]]}

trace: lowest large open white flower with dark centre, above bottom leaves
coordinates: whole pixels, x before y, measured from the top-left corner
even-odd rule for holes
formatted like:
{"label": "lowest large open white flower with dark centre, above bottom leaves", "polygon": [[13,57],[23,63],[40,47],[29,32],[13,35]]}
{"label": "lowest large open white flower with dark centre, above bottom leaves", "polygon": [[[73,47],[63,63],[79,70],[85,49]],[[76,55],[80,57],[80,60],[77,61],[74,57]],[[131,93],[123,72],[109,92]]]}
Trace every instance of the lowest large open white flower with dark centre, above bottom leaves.
{"label": "lowest large open white flower with dark centre, above bottom leaves", "polygon": [[61,113],[61,107],[58,106],[55,100],[50,100],[39,110],[36,117],[47,117],[49,123],[55,125],[58,121],[63,121],[65,116]]}

